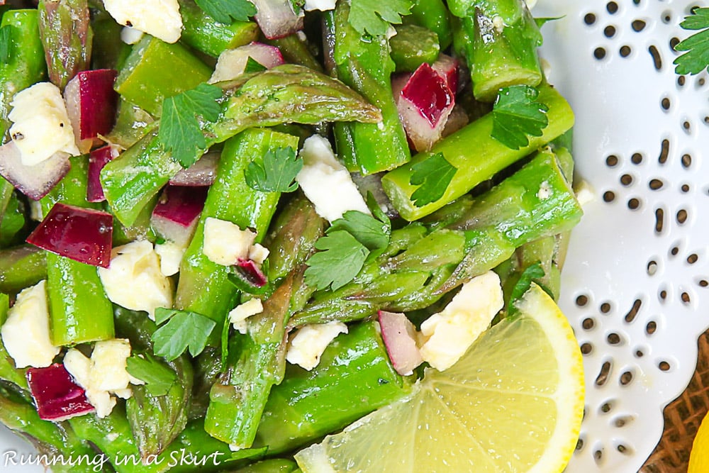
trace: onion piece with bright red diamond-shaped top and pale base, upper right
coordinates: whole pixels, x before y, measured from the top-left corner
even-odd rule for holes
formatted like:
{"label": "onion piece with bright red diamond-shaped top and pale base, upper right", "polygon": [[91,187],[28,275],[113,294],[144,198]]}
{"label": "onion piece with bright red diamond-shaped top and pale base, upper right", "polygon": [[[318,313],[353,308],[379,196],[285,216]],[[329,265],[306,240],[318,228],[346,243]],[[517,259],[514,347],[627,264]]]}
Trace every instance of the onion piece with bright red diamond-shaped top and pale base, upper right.
{"label": "onion piece with bright red diamond-shaped top and pale base, upper right", "polygon": [[416,151],[428,151],[440,140],[455,105],[445,79],[424,63],[413,74],[392,82],[394,99],[406,135]]}

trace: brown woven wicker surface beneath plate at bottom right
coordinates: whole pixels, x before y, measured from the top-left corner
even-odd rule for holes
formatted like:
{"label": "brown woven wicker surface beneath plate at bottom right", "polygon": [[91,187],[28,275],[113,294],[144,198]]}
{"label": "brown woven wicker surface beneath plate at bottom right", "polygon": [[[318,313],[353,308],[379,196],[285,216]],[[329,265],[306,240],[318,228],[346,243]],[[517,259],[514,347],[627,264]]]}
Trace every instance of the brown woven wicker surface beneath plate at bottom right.
{"label": "brown woven wicker surface beneath plate at bottom right", "polygon": [[641,473],[684,473],[694,435],[709,411],[709,330],[699,338],[699,357],[687,389],[664,410],[665,428]]}

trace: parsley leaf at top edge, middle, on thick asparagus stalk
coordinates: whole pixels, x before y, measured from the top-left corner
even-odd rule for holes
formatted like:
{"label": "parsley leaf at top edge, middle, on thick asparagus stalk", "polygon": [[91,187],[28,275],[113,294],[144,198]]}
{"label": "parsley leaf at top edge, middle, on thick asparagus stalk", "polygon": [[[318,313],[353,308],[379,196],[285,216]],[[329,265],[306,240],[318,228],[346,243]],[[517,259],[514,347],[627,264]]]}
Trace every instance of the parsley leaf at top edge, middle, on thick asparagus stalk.
{"label": "parsley leaf at top edge, middle, on thick asparagus stalk", "polygon": [[350,25],[362,35],[385,35],[390,23],[401,24],[412,6],[411,0],[352,0]]}

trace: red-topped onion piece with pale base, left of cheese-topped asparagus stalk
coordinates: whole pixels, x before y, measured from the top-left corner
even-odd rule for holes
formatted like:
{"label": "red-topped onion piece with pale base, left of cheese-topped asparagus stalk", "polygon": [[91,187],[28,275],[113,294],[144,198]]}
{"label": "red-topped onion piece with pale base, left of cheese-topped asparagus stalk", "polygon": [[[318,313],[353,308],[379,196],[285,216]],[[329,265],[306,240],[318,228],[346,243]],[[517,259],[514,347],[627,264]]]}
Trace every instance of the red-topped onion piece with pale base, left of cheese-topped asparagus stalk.
{"label": "red-topped onion piece with pale base, left of cheese-topped asparagus stalk", "polygon": [[186,245],[204,208],[207,191],[207,187],[165,187],[152,210],[150,225],[162,238]]}

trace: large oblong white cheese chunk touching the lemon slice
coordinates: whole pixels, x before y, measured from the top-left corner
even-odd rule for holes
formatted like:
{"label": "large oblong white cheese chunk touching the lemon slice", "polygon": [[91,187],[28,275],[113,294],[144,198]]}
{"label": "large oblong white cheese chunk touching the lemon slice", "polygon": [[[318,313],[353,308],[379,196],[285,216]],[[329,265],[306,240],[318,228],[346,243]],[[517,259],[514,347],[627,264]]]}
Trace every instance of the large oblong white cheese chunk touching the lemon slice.
{"label": "large oblong white cheese chunk touching the lemon slice", "polygon": [[421,323],[423,360],[439,371],[452,367],[489,327],[503,305],[496,273],[489,271],[463,284],[443,311]]}

